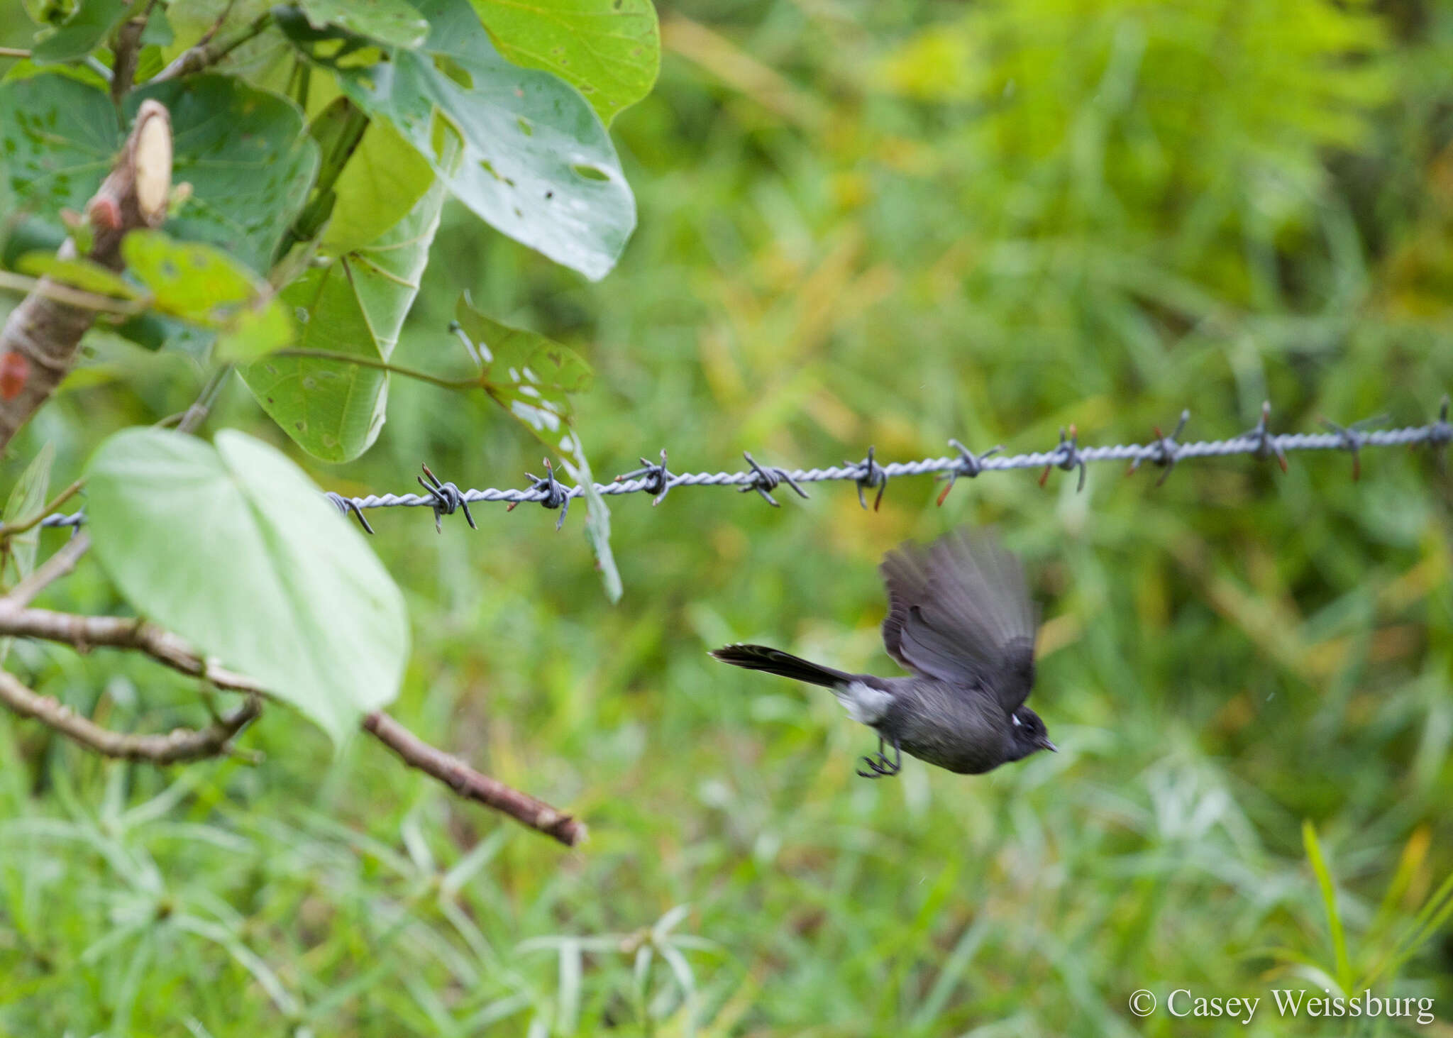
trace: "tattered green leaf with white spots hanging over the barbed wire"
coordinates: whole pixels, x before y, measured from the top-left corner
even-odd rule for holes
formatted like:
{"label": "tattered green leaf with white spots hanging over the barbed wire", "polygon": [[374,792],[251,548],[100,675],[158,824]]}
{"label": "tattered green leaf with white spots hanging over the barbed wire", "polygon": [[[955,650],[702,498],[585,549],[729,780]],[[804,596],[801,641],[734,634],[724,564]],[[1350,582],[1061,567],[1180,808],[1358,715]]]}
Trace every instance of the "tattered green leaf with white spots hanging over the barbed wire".
{"label": "tattered green leaf with white spots hanging over the barbed wire", "polygon": [[620,571],[610,551],[610,509],[596,490],[586,448],[574,429],[571,393],[590,387],[590,365],[578,353],[535,331],[511,329],[485,317],[462,297],[455,307],[459,330],[474,343],[484,363],[485,393],[529,429],[535,439],[559,455],[570,477],[586,496],[586,538],[596,552],[606,596],[620,600]]}

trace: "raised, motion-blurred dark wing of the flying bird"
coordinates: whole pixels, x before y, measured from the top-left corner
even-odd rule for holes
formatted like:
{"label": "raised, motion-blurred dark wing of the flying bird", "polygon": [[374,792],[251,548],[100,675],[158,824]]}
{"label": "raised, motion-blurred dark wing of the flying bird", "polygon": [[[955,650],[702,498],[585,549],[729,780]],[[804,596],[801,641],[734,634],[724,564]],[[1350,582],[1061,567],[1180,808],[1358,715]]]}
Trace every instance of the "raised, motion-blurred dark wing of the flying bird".
{"label": "raised, motion-blurred dark wing of the flying bird", "polygon": [[889,656],[930,677],[987,686],[1007,712],[1024,702],[1037,615],[1019,560],[991,534],[953,531],[927,548],[910,542],[879,568]]}

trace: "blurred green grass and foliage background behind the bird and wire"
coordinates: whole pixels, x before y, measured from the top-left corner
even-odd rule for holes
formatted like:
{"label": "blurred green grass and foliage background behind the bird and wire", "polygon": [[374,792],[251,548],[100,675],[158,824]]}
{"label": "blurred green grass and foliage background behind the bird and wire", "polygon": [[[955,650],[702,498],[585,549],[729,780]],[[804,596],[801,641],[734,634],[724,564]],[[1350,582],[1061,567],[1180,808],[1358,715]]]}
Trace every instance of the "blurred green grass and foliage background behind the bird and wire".
{"label": "blurred green grass and foliage background behind the bird and wire", "polygon": [[[604,475],[661,446],[715,470],[949,436],[1042,449],[1069,423],[1123,442],[1183,407],[1189,438],[1235,435],[1264,398],[1279,429],[1418,425],[1453,388],[1444,3],[695,0],[661,19],[661,81],[613,126],[641,205],[620,266],[590,285],[446,211],[395,355],[458,361],[462,289],[572,345]],[[198,378],[97,337],[7,483],[46,440],[70,478]],[[280,442],[237,385],[222,425]],[[376,448],[311,471],[402,491],[421,461],[517,486],[539,448],[487,403],[395,381]],[[1437,999],[1437,1022],[1338,1028],[1453,1035],[1453,936],[1418,914],[1453,869],[1453,493],[1425,452],[1348,468],[1232,458],[1152,488],[1098,467],[1081,494],[1007,472],[942,509],[899,480],[878,513],[850,486],[782,509],[616,499],[618,606],[580,516],[556,534],[554,513],[479,507],[478,532],[436,535],[373,513],[414,627],[398,715],[578,811],[591,842],[561,852],[376,746],[333,757],[283,709],[246,739],[264,763],[167,772],[0,715],[0,1034],[1247,1031],[1141,1021],[1142,987],[1260,994],[1257,1034],[1328,1034],[1268,990],[1373,974]],[[830,696],[706,657],[760,640],[892,673],[875,564],[959,522],[998,523],[1027,561],[1059,755],[865,782],[873,740]],[[48,602],[115,598],[86,566]],[[110,724],[199,717],[158,667],[10,653]]]}

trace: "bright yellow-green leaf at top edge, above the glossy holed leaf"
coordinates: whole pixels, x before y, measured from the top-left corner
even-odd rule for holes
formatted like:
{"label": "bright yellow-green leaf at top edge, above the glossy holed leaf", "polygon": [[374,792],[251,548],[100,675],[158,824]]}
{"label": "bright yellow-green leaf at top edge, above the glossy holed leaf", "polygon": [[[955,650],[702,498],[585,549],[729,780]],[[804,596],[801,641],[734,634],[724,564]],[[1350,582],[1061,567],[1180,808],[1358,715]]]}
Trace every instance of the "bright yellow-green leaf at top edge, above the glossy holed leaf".
{"label": "bright yellow-green leaf at top edge, above the glossy holed leaf", "polygon": [[651,0],[472,1],[500,54],[559,76],[607,126],[655,84],[661,29]]}

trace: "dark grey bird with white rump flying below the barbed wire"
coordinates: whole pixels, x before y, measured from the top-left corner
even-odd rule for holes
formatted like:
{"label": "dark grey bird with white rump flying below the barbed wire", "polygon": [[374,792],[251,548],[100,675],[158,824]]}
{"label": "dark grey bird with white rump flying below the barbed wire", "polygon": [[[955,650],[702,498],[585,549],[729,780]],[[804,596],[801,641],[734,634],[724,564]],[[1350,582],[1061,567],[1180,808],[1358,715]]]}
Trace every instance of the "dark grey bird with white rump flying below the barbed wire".
{"label": "dark grey bird with white rump flying below the barbed wire", "polygon": [[853,675],[767,645],[724,645],[711,656],[831,689],[851,720],[878,733],[878,753],[857,769],[863,778],[897,775],[904,753],[982,775],[1058,752],[1045,721],[1024,705],[1039,609],[998,536],[959,528],[928,547],[908,541],[883,555],[879,573],[888,589],[883,645],[908,677]]}

